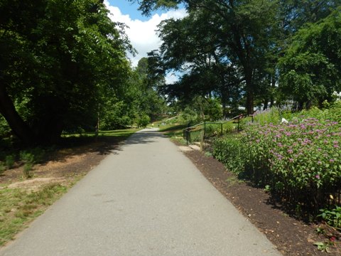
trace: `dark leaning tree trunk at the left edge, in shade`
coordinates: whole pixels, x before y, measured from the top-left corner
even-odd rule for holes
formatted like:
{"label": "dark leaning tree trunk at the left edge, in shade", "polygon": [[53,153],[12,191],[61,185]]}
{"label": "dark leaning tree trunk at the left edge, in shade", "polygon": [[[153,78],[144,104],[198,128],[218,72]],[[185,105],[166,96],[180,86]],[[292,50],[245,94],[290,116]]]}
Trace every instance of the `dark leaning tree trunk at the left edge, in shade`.
{"label": "dark leaning tree trunk at the left edge, in shade", "polygon": [[25,144],[34,144],[35,137],[28,124],[23,121],[3,83],[0,82],[0,112],[9,123],[12,132]]}

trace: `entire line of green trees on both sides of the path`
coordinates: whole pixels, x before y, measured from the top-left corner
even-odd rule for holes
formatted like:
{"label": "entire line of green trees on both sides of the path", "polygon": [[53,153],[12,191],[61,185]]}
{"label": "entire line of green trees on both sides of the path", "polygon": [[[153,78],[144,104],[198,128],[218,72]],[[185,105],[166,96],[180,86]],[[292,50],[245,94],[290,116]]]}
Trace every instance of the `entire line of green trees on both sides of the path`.
{"label": "entire line of green trees on both sides of the path", "polygon": [[[132,68],[124,24],[102,1],[1,1],[1,137],[50,144],[62,132],[144,125],[167,112],[196,122],[241,107],[323,107],[341,90],[341,0],[140,4],[144,14],[183,4],[188,16],[163,21],[161,48]],[[166,85],[170,72],[180,80]]]}

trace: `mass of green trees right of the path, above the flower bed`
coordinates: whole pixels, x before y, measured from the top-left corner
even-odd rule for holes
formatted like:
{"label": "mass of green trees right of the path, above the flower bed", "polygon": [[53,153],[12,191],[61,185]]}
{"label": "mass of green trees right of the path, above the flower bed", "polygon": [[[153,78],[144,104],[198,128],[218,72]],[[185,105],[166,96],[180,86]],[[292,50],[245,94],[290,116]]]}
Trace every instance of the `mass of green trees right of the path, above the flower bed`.
{"label": "mass of green trees right of the path, above the flower bed", "polygon": [[302,110],[340,92],[340,0],[144,0],[140,9],[178,4],[188,16],[161,23],[150,58],[155,73],[180,75],[162,89],[183,109],[202,97],[219,100],[224,117],[240,106]]}

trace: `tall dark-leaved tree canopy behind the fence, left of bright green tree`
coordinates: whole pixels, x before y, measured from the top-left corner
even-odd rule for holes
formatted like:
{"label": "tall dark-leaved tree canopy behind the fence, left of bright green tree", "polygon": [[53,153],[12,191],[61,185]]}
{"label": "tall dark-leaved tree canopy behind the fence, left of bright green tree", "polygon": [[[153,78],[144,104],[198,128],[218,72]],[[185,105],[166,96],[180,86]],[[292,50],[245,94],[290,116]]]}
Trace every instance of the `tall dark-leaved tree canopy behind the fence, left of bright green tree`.
{"label": "tall dark-leaved tree canopy behind the fence, left of bright green tree", "polygon": [[[131,0],[134,1],[134,0]],[[222,104],[244,97],[251,114],[255,102],[274,103],[278,58],[292,36],[306,23],[325,18],[340,0],[143,0],[148,15],[158,8],[183,4],[188,16],[164,21],[159,29],[163,45],[154,54],[160,70],[185,75],[171,92],[215,92]],[[156,53],[156,52],[154,52]],[[234,69],[234,71],[232,71]],[[210,73],[210,75],[208,75]],[[190,85],[188,82],[195,82]],[[199,82],[201,81],[201,82]],[[205,83],[204,86],[202,86]],[[182,92],[181,92],[182,91]]]}

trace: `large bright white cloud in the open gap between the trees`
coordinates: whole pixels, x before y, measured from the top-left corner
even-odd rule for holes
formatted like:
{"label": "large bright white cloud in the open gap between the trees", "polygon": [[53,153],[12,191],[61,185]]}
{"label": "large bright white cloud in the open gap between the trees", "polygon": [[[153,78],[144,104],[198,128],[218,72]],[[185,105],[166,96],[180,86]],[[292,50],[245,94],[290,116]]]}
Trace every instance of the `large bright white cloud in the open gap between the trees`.
{"label": "large bright white cloud in the open gap between the trees", "polygon": [[164,14],[154,14],[148,21],[140,21],[138,19],[131,19],[129,15],[121,14],[121,11],[116,6],[111,6],[109,1],[105,0],[104,4],[111,12],[110,18],[112,21],[119,21],[125,23],[126,35],[131,41],[131,45],[137,50],[135,57],[129,55],[133,66],[136,66],[139,60],[147,56],[151,50],[156,50],[161,46],[161,40],[156,34],[158,24],[167,18],[183,18],[186,16],[185,9],[178,9],[168,11]]}

